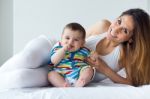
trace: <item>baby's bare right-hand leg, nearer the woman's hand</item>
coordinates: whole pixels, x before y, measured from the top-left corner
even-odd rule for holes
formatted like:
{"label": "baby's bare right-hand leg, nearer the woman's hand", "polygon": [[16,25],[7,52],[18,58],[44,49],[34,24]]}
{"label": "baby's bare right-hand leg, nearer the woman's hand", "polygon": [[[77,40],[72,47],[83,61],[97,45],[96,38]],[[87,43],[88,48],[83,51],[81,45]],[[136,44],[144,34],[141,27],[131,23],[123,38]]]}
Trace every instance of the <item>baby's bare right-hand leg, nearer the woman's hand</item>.
{"label": "baby's bare right-hand leg, nearer the woman's hand", "polygon": [[86,67],[83,71],[80,72],[79,79],[75,83],[75,87],[83,87],[88,84],[94,75],[94,70],[92,67]]}

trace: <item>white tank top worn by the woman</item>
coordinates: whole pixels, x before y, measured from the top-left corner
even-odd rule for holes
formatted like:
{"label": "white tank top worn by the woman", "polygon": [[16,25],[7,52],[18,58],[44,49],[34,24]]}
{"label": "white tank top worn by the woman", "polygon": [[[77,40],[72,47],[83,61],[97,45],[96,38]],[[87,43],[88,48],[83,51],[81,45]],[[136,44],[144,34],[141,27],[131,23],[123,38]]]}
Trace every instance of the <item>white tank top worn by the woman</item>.
{"label": "white tank top worn by the woman", "polygon": [[[102,33],[99,35],[94,35],[90,36],[89,38],[86,39],[86,44],[85,46],[90,48],[91,50],[96,50],[97,44],[106,37],[107,33]],[[105,61],[105,63],[112,68],[114,71],[119,71],[119,66],[118,66],[118,60],[120,56],[120,46],[117,46],[112,52],[109,54],[102,56],[100,55],[99,57]],[[106,76],[103,74],[96,72],[94,81],[101,81],[105,79]]]}

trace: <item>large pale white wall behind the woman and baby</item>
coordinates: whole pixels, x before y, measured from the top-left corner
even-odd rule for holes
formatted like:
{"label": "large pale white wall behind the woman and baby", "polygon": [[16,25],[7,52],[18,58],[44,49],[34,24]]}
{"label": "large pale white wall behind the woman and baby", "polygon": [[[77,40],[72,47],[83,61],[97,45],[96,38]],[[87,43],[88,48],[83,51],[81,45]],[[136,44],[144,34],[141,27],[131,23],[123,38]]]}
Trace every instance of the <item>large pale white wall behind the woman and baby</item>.
{"label": "large pale white wall behind the woman and baby", "polygon": [[126,9],[148,11],[148,0],[14,0],[14,53],[40,34],[60,38],[65,24],[85,28],[103,18],[114,19]]}

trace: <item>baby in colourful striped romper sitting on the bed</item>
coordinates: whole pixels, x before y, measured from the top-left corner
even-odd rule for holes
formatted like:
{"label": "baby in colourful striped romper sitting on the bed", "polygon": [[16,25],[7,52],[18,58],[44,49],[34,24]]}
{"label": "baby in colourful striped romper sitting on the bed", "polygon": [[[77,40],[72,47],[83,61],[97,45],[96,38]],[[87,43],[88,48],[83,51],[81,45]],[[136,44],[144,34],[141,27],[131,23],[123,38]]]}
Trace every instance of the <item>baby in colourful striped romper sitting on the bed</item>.
{"label": "baby in colourful striped romper sitting on the bed", "polygon": [[56,43],[50,53],[49,82],[56,87],[83,87],[93,76],[94,69],[84,60],[90,50],[84,47],[85,29],[78,23],[65,26],[61,41]]}

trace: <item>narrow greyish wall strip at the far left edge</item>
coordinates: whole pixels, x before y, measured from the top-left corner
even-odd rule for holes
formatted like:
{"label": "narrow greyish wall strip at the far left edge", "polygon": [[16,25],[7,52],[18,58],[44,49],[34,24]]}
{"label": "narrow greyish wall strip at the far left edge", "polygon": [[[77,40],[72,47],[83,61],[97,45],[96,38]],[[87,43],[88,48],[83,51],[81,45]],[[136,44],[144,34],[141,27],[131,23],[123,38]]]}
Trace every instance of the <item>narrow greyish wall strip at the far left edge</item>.
{"label": "narrow greyish wall strip at the far left edge", "polygon": [[0,65],[13,55],[13,0],[0,0]]}

